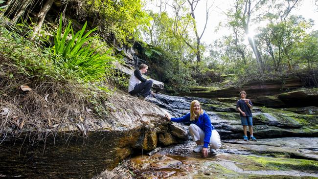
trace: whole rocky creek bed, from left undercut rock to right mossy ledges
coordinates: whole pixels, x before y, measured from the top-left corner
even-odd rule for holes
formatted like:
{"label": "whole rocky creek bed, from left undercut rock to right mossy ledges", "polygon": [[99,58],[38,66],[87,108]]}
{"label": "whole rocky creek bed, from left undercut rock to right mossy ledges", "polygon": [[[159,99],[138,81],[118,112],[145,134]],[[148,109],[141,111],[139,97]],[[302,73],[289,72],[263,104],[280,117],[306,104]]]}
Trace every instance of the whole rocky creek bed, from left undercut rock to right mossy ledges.
{"label": "whole rocky creek bed, from left undercut rock to right mossy ledges", "polygon": [[[193,153],[195,144],[189,141],[187,124],[172,125],[163,117],[165,112],[184,115],[194,99],[201,102],[221,135],[222,148],[215,157]],[[105,106],[109,118],[85,119],[67,130],[61,126],[61,133],[46,141],[30,143],[25,136],[32,136],[32,131],[7,137],[0,144],[0,177],[92,178],[104,169],[127,178],[318,177],[315,106],[255,106],[252,112],[258,142],[241,140],[243,131],[233,99],[220,102],[157,94],[156,98],[139,100],[117,94]],[[158,146],[162,148],[159,153],[146,155]],[[138,155],[140,151],[142,155]],[[109,178],[103,173],[98,177]]]}

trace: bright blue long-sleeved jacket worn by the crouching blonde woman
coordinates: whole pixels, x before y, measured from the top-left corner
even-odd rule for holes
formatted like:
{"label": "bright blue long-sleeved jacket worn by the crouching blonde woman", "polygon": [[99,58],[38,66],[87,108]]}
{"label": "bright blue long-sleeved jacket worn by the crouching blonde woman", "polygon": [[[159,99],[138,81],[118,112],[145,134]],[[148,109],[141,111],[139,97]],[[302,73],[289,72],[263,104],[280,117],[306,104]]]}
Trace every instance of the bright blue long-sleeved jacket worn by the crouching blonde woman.
{"label": "bright blue long-sleeved jacket worn by the crouching blonde woman", "polygon": [[210,137],[212,130],[215,130],[214,127],[211,124],[210,117],[207,115],[207,113],[203,112],[198,118],[198,120],[190,121],[190,112],[186,115],[178,118],[171,117],[171,121],[173,122],[191,122],[192,124],[195,124],[199,126],[203,132],[204,132],[204,145],[203,147],[207,148],[210,143]]}

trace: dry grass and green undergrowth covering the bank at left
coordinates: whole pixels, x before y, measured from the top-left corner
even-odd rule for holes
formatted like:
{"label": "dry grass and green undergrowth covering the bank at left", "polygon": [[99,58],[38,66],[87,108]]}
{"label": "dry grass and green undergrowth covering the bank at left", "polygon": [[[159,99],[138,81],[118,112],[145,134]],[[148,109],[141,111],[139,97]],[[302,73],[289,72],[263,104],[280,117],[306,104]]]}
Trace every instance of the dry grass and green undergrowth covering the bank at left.
{"label": "dry grass and green undergrowth covering the bank at left", "polygon": [[44,47],[0,27],[0,143],[23,133],[30,140],[67,131],[85,136],[85,120],[108,116],[103,102],[113,93],[108,79],[116,59],[99,49],[94,30],[74,34],[69,23],[62,31],[60,20],[55,44]]}

